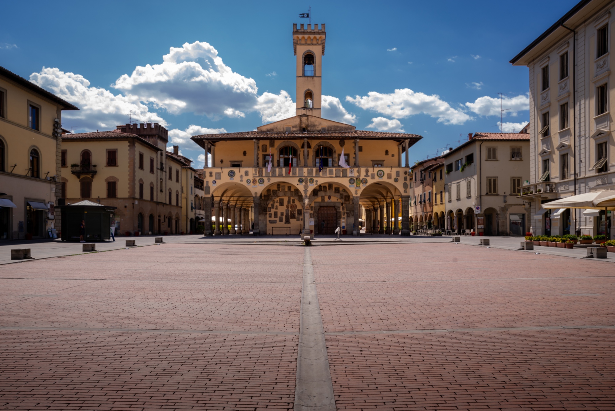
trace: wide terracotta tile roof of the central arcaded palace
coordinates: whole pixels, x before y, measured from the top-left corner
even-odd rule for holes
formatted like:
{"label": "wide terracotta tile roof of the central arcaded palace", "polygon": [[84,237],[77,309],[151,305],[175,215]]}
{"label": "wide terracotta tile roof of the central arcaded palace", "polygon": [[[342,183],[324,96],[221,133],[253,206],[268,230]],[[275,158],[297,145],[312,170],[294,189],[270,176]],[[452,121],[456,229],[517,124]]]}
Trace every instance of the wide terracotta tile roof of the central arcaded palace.
{"label": "wide terracotta tile roof of the central arcaded palace", "polygon": [[367,130],[355,130],[352,132],[308,132],[308,133],[285,133],[285,132],[261,132],[261,131],[242,131],[237,133],[223,133],[223,134],[201,134],[195,135],[192,141],[198,145],[203,146],[204,140],[252,140],[258,138],[260,140],[293,140],[296,138],[365,138],[370,140],[387,139],[387,140],[411,140],[412,143],[418,142],[421,137],[418,134],[403,134],[403,133],[389,133],[380,131],[367,131]]}

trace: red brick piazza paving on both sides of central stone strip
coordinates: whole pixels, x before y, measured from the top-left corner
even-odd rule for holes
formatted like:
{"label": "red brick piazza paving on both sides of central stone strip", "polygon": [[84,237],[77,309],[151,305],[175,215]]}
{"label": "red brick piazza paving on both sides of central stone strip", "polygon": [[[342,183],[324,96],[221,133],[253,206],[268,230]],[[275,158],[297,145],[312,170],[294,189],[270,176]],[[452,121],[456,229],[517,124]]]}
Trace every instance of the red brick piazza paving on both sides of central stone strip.
{"label": "red brick piazza paving on both sides of central stone strip", "polygon": [[0,266],[0,408],[293,409],[311,253],[336,408],[613,410],[613,263],[163,244]]}

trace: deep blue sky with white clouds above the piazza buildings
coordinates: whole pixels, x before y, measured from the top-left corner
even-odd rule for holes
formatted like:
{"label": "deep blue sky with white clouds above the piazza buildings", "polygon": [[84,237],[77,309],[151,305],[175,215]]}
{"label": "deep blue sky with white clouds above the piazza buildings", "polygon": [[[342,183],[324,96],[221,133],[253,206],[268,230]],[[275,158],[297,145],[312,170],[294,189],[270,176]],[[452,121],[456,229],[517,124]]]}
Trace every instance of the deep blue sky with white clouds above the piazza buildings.
{"label": "deep blue sky with white clouds above the piazza buildings", "polygon": [[[294,113],[293,23],[327,24],[323,117],[423,135],[411,161],[472,132],[528,121],[528,71],[509,60],[576,1],[4,2],[0,65],[82,108],[63,126],[162,122],[190,135],[253,130]],[[531,12],[530,12],[531,10]],[[53,30],[50,30],[53,27]],[[171,49],[173,47],[173,49]],[[397,90],[397,91],[395,91]],[[71,118],[71,115],[74,116]]]}

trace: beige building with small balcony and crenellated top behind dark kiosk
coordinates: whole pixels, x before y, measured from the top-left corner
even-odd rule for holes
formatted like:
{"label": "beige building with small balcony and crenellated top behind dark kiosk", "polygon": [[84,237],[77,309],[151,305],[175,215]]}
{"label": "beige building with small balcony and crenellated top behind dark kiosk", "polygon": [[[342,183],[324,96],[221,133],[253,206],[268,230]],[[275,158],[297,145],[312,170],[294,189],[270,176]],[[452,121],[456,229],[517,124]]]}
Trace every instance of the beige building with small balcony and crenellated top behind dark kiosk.
{"label": "beige building with small balcony and crenellated top behind dark kiosk", "polygon": [[116,207],[116,235],[181,233],[186,163],[166,150],[167,139],[167,130],[159,124],[65,134],[64,202],[89,199]]}

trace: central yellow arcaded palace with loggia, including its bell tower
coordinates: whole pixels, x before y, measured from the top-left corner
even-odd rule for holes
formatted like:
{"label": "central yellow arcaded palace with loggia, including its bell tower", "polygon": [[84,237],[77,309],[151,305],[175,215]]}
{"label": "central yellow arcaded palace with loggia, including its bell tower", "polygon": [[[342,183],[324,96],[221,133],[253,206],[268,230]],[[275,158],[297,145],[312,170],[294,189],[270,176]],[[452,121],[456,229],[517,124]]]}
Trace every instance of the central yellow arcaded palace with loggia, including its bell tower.
{"label": "central yellow arcaded palace with loggia, including its bell tower", "polygon": [[[409,235],[408,149],[415,134],[356,130],[323,119],[322,59],[325,25],[293,25],[296,56],[296,116],[255,131],[192,137],[205,150],[205,221],[231,218],[242,233],[359,235],[384,233],[384,221],[401,209],[401,234]],[[341,154],[344,158],[341,158]],[[207,166],[207,155],[212,167]],[[344,167],[346,163],[346,167]],[[399,234],[394,223],[392,234]],[[231,233],[206,226],[205,234]]]}

